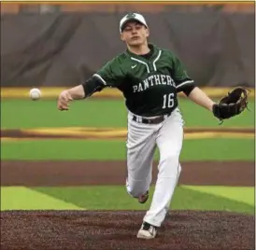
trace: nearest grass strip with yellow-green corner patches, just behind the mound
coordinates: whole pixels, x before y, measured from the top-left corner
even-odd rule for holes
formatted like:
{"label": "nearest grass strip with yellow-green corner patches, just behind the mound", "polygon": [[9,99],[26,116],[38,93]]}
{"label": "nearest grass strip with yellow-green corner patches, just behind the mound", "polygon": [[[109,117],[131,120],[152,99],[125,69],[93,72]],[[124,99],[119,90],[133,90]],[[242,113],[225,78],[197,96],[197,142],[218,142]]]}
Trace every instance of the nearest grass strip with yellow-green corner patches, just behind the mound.
{"label": "nearest grass strip with yellow-green corner patches, just behind the mound", "polygon": [[[151,187],[151,193],[154,187]],[[214,190],[214,191],[212,191]],[[225,194],[225,195],[223,195]],[[146,210],[124,187],[2,187],[1,210]],[[13,199],[13,197],[18,197]],[[219,210],[254,214],[253,187],[177,187],[172,209]],[[82,199],[81,199],[82,198]],[[149,201],[152,196],[150,195]],[[31,202],[33,201],[33,202]]]}

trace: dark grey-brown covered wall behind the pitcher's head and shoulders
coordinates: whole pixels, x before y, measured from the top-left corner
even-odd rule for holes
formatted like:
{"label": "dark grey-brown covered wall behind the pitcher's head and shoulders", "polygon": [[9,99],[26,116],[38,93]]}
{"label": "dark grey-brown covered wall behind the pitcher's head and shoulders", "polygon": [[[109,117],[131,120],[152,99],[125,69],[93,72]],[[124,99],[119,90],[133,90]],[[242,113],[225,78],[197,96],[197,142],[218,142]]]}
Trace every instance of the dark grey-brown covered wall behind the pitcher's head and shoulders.
{"label": "dark grey-brown covered wall behind the pitcher's head and shoulders", "polygon": [[[1,86],[73,86],[91,76],[125,49],[119,21],[131,9],[109,9],[51,6],[42,13],[38,6],[22,6],[1,13]],[[143,9],[150,42],[178,54],[198,85],[254,86],[254,12]]]}

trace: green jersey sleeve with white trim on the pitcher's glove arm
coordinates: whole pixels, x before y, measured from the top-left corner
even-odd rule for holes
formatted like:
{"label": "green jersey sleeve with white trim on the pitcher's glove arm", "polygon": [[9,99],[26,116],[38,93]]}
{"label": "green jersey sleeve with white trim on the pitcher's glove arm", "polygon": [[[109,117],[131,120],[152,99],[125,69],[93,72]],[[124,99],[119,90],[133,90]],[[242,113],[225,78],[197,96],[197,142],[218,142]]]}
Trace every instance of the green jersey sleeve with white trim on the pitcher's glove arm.
{"label": "green jersey sleeve with white trim on the pitcher's glove arm", "polygon": [[176,83],[177,91],[183,91],[187,88],[191,88],[192,86],[194,86],[193,79],[190,76],[188,76],[183,63],[180,62],[177,56],[172,56],[172,62],[172,77]]}

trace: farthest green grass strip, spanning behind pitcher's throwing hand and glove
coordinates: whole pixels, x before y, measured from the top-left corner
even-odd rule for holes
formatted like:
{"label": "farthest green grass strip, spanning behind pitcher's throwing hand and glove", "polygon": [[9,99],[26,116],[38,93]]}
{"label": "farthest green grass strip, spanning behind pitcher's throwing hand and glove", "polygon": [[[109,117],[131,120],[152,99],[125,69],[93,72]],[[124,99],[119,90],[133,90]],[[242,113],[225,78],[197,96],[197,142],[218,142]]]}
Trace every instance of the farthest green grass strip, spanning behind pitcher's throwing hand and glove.
{"label": "farthest green grass strip, spanning behind pitcher's throwing hand and glove", "polygon": [[[216,127],[218,120],[206,109],[180,99],[180,110],[187,127]],[[254,102],[251,112],[226,120],[222,127],[254,127]],[[126,127],[127,112],[123,100],[88,99],[71,104],[67,112],[58,111],[55,100],[4,99],[1,101],[1,127]]]}

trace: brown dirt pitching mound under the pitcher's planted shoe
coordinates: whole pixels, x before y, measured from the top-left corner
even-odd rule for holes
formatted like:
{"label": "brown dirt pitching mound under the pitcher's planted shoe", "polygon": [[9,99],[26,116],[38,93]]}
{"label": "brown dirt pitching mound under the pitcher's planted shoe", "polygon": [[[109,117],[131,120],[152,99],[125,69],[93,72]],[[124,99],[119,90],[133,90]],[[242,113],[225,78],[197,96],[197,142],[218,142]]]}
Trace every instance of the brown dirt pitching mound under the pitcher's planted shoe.
{"label": "brown dirt pitching mound under the pitcher's planted shoe", "polygon": [[172,211],[154,240],[136,239],[144,212],[1,212],[1,249],[254,249],[254,217]]}

